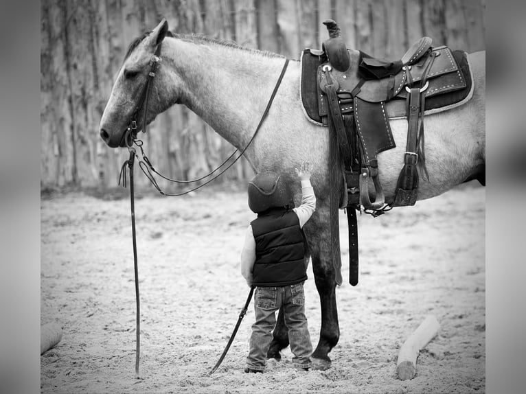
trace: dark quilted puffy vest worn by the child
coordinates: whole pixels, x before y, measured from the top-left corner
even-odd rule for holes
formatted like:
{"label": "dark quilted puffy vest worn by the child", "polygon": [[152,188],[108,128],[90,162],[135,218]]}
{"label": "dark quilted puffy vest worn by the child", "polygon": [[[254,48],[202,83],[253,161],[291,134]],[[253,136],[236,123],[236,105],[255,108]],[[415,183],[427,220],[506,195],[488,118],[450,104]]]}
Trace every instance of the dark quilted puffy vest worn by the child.
{"label": "dark quilted puffy vest worn by the child", "polygon": [[287,286],[307,279],[304,235],[294,211],[271,209],[260,213],[251,226],[254,286]]}

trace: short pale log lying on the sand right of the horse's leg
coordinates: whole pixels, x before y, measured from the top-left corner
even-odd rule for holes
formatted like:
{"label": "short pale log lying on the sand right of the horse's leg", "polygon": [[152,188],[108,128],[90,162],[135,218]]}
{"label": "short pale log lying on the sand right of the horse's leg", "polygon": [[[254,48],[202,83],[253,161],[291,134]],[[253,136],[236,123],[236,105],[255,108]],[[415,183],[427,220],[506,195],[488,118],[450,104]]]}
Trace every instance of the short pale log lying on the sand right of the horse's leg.
{"label": "short pale log lying on the sand right of the horse's leg", "polygon": [[428,315],[417,329],[407,338],[398,352],[396,371],[400,380],[412,379],[416,373],[416,359],[420,350],[437,335],[440,325],[437,318]]}

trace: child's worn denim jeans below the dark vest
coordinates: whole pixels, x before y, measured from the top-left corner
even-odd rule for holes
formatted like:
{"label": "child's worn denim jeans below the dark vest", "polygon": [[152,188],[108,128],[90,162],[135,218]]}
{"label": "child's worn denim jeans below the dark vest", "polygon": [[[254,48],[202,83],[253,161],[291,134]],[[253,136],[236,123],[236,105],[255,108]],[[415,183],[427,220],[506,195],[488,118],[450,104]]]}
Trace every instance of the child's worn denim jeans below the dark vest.
{"label": "child's worn denim jeans below the dark vest", "polygon": [[250,351],[247,367],[263,371],[266,353],[272,341],[272,330],[276,325],[275,312],[283,306],[288,342],[293,352],[293,364],[299,368],[310,368],[312,344],[305,316],[305,292],[303,282],[283,287],[258,287],[255,289],[255,323],[252,325]]}

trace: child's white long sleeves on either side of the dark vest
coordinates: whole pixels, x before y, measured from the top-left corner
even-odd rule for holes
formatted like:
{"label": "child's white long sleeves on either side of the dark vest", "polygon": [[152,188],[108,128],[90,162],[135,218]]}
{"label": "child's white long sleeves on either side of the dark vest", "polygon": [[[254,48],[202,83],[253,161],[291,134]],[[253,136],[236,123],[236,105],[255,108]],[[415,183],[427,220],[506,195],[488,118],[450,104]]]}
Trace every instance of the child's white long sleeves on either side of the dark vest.
{"label": "child's white long sleeves on either side of the dark vest", "polygon": [[[314,189],[307,179],[301,181],[301,205],[293,208],[299,219],[299,227],[303,228],[312,213],[316,210],[316,196]],[[255,262],[255,239],[252,233],[252,226],[249,225],[244,237],[243,250],[241,251],[241,275],[247,280],[249,286],[252,285],[252,270]]]}

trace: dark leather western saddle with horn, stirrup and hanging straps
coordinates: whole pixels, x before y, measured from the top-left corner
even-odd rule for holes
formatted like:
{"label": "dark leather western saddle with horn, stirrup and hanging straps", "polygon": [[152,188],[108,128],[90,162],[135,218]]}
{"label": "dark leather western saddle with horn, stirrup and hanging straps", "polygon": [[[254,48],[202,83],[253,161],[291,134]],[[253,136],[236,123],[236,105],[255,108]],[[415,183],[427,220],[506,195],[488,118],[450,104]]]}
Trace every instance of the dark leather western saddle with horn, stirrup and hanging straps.
{"label": "dark leather western saddle with horn, stirrup and hanging straps", "polygon": [[[350,283],[354,286],[358,283],[356,211],[363,207],[365,213],[378,216],[392,207],[415,204],[417,167],[428,180],[424,113],[463,104],[472,94],[472,82],[466,54],[445,46],[432,47],[429,37],[411,45],[400,60],[389,61],[347,49],[336,22],[328,19],[323,24],[329,38],[321,51],[305,49],[301,55],[301,100],[310,121],[329,128],[331,204],[339,207],[340,196],[333,191],[339,189],[343,163],[347,188],[343,207],[349,222]],[[389,119],[400,118],[408,120],[406,152],[396,194],[386,201],[376,156],[396,146]],[[374,192],[369,190],[370,181]],[[336,217],[331,218],[331,226],[333,219],[337,223],[337,209],[332,211]],[[333,240],[333,258],[339,261],[335,242],[339,240]]]}

